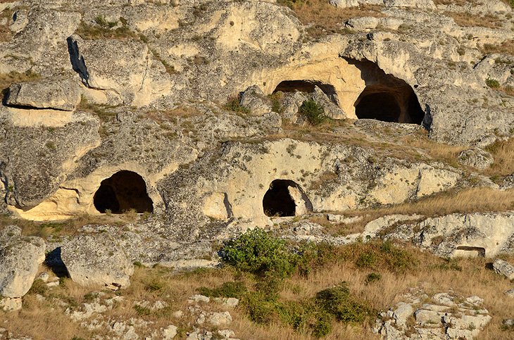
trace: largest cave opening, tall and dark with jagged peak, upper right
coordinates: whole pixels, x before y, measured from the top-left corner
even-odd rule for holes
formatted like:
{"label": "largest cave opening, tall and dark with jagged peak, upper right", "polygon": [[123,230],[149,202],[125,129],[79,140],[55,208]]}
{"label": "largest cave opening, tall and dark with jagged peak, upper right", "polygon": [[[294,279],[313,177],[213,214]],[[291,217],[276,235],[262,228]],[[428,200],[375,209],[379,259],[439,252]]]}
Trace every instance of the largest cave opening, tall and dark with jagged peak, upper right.
{"label": "largest cave opening, tall and dark with jagged peak, upper right", "polygon": [[365,89],[353,104],[357,118],[383,122],[421,124],[425,112],[418,96],[407,82],[387,75],[370,61],[349,61],[361,70]]}

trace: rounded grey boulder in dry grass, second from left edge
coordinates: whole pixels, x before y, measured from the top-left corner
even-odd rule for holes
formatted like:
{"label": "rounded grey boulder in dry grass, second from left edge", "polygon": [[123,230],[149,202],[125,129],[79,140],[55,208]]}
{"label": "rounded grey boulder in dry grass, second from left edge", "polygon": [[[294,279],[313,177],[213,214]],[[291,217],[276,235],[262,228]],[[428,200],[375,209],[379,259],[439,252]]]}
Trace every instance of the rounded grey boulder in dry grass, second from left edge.
{"label": "rounded grey boulder in dry grass, second from left edge", "polygon": [[75,237],[61,248],[61,258],[73,282],[82,285],[128,287],[134,274],[123,248],[106,233]]}

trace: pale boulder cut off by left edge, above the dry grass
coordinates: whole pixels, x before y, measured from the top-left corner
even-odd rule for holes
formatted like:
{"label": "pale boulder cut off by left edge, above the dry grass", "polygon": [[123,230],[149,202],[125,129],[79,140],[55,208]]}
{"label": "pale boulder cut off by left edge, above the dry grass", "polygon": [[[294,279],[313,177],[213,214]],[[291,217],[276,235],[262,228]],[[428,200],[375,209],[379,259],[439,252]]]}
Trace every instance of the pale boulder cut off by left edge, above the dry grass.
{"label": "pale boulder cut off by left edge, above the dry grass", "polygon": [[27,294],[44,261],[45,244],[41,237],[14,233],[0,238],[0,295],[20,298]]}

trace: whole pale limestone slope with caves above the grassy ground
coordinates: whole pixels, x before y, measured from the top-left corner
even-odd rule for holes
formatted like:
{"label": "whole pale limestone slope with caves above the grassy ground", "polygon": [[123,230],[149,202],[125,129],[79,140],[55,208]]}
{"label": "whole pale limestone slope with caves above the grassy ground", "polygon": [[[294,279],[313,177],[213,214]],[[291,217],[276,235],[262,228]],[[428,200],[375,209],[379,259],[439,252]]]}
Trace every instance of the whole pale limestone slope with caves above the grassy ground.
{"label": "whole pale limestone slope with caves above the grassy ground", "polygon": [[[3,229],[2,306],[20,308],[45,249],[54,272],[118,289],[134,261],[214,267],[213,244],[255,227],[513,253],[513,7],[330,4],[329,28],[288,1],[1,1],[0,210],[104,218],[70,238]],[[394,212],[481,188],[503,201]],[[13,247],[35,248],[19,272]]]}

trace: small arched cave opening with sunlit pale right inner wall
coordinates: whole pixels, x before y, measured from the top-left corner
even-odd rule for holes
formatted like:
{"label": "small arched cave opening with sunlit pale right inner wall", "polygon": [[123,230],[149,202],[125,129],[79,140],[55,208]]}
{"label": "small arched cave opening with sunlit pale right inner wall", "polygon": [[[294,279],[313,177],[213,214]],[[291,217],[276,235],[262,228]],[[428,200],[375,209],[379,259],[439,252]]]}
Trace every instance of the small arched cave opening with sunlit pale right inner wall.
{"label": "small arched cave opening with sunlit pale right inner wall", "polygon": [[313,205],[303,189],[291,180],[274,180],[263,198],[266,216],[296,216],[311,212]]}

